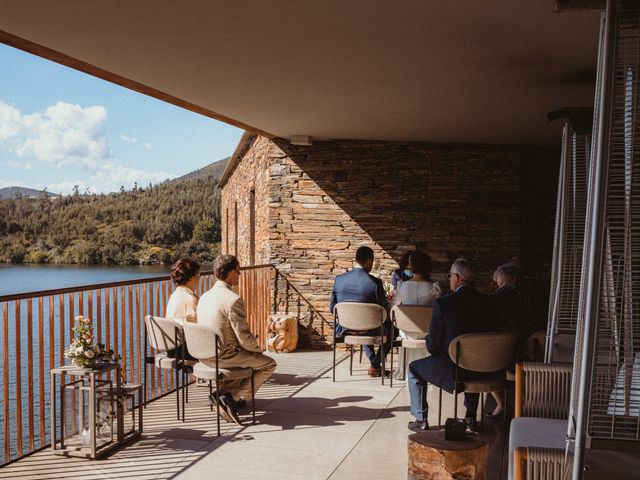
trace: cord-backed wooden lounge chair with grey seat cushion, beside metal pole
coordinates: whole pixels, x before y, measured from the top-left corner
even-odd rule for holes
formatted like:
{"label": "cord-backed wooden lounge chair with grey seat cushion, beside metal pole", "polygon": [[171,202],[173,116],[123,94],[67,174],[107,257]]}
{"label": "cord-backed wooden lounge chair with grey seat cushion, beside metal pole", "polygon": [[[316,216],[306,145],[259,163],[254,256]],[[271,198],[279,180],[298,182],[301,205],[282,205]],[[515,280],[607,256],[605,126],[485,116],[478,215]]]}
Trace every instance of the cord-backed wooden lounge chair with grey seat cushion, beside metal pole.
{"label": "cord-backed wooden lounge chair with grey seat cushion, beside metal pole", "polygon": [[[572,365],[523,362],[516,365],[515,417],[509,434],[509,479],[560,479],[569,418]],[[530,472],[530,473],[527,473]]]}

